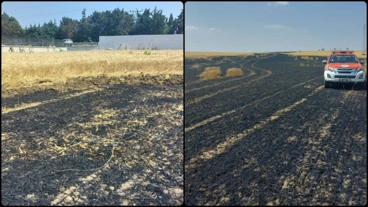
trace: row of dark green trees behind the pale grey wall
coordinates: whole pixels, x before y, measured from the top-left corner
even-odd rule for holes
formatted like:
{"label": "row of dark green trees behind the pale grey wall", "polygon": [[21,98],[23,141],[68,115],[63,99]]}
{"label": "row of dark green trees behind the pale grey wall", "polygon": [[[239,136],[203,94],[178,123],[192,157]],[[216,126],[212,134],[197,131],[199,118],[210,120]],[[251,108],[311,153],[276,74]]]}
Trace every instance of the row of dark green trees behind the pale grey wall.
{"label": "row of dark green trees behind the pale grey wall", "polygon": [[2,36],[72,39],[73,42],[98,42],[99,36],[122,36],[136,34],[182,34],[183,10],[177,17],[172,13],[169,18],[156,7],[153,11],[145,9],[142,14],[129,14],[120,10],[93,12],[86,17],[86,10],[82,11],[80,20],[62,17],[60,25],[50,20],[42,26],[34,24],[22,28],[16,18],[6,13],[2,14]]}

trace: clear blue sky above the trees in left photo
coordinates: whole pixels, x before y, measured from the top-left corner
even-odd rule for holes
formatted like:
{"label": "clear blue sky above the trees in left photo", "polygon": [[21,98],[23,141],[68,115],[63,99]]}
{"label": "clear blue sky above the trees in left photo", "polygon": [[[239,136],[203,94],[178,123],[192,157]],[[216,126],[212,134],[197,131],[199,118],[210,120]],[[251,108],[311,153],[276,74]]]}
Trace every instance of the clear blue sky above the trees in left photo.
{"label": "clear blue sky above the trees in left photo", "polygon": [[116,8],[124,9],[126,12],[136,9],[153,11],[155,6],[162,10],[162,14],[166,17],[172,13],[174,18],[177,18],[183,9],[182,2],[3,2],[2,14],[5,12],[15,17],[25,28],[25,26],[29,27],[29,24],[43,25],[50,20],[54,22],[54,18],[59,25],[63,16],[80,20],[83,9],[86,9],[86,16],[89,16],[94,11],[113,11]]}

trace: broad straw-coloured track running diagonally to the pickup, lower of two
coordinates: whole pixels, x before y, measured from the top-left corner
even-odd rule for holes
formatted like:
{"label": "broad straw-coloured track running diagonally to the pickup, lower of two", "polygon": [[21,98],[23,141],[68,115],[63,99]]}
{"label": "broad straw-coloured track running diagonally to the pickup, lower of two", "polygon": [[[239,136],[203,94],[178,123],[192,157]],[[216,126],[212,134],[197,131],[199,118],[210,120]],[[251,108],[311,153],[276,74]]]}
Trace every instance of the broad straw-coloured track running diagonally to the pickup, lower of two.
{"label": "broad straw-coloured track running diagonally to the pickup, lower of two", "polygon": [[292,105],[282,108],[278,111],[276,111],[274,114],[270,116],[270,118],[267,118],[265,120],[260,121],[258,124],[253,125],[252,127],[245,129],[241,133],[233,134],[225,138],[225,141],[222,143],[217,144],[217,146],[214,149],[204,149],[202,152],[191,158],[189,163],[186,164],[186,169],[195,168],[196,162],[202,163],[203,161],[207,159],[213,158],[217,154],[222,154],[228,149],[229,147],[233,146],[237,141],[243,139],[248,134],[252,133],[253,131],[260,129],[264,127],[266,124],[270,123],[273,120],[276,120],[286,112],[291,111],[293,108],[297,107],[301,103],[305,102],[310,96],[316,94],[318,91],[322,90],[324,86],[319,86],[315,88],[306,98],[302,98],[301,100],[293,103]]}

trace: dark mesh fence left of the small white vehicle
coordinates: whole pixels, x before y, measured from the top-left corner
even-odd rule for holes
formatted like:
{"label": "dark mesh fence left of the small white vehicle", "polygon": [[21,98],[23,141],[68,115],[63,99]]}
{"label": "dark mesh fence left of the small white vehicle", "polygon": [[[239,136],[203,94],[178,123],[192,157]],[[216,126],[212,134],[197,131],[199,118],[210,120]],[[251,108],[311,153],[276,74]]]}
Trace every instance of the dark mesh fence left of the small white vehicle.
{"label": "dark mesh fence left of the small white vehicle", "polygon": [[63,44],[64,40],[2,36],[2,45],[9,45],[9,46],[31,45],[35,47],[47,47],[47,46],[63,47]]}

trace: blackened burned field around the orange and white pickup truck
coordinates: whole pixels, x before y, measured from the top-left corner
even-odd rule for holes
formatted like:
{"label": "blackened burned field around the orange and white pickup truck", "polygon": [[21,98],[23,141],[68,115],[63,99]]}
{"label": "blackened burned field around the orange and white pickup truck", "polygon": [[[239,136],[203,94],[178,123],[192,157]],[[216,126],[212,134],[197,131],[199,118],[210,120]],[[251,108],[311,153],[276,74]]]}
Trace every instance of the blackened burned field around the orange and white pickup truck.
{"label": "blackened burned field around the orange and white pickup truck", "polygon": [[[325,89],[321,61],[186,60],[186,204],[366,204],[366,90]],[[200,81],[206,67],[222,77]]]}

